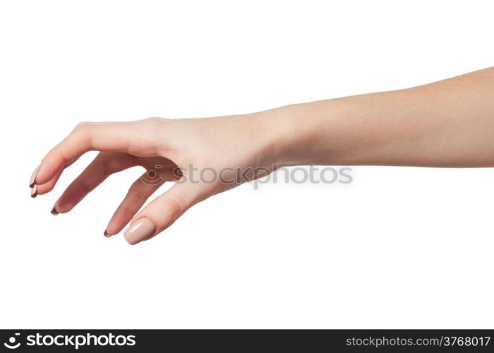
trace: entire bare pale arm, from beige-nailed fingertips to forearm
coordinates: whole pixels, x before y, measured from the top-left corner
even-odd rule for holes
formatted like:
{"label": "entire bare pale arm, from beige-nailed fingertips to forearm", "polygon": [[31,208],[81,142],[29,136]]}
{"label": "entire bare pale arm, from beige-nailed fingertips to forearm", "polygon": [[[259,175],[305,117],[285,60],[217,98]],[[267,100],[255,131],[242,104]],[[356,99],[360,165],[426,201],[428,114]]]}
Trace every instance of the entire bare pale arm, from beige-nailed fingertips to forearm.
{"label": "entire bare pale arm, from beige-nailed fingertips to forearm", "polygon": [[494,67],[415,88],[253,114],[81,123],[45,155],[31,178],[32,196],[52,191],[64,169],[90,150],[100,153],[52,213],[72,210],[110,174],[137,165],[153,169],[162,182],[136,180],[104,232],[111,237],[129,225],[124,237],[137,244],[163,232],[196,203],[236,186],[221,179],[179,182],[141,210],[159,186],[177,179],[177,167],[494,167]]}

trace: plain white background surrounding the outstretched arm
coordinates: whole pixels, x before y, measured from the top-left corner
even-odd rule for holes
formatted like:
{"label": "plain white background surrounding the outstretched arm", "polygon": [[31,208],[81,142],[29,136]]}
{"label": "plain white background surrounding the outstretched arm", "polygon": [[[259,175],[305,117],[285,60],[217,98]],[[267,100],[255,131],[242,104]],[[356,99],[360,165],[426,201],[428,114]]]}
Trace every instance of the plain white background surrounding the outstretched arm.
{"label": "plain white background surrounding the outstretched arm", "polygon": [[492,1],[2,1],[1,328],[493,328],[494,170],[252,184],[130,246],[142,171],[49,214],[28,179],[79,121],[255,112],[493,66]]}

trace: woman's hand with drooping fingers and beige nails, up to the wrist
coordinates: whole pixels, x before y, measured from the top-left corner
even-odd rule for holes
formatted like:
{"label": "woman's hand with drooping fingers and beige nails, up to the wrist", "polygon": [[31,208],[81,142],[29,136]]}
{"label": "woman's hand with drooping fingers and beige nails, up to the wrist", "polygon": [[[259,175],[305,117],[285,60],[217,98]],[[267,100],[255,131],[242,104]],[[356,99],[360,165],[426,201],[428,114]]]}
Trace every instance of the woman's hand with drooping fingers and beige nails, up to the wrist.
{"label": "woman's hand with drooping fingers and beige nails, up to the wrist", "polygon": [[[72,210],[110,174],[140,165],[146,172],[131,185],[104,232],[111,237],[131,222],[124,237],[137,244],[167,229],[195,203],[259,177],[254,169],[270,172],[270,140],[255,114],[81,123],[43,158],[30,181],[31,195],[52,191],[64,169],[90,150],[101,152],[56,201],[52,214]],[[245,173],[241,178],[238,170]],[[159,186],[176,179],[138,213]]]}

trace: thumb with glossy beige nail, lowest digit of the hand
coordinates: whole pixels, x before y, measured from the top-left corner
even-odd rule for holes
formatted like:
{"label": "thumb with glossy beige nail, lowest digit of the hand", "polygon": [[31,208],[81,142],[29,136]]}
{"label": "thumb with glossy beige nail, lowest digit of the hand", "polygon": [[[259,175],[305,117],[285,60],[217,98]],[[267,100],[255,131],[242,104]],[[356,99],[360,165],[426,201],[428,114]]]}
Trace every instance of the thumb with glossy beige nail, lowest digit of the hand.
{"label": "thumb with glossy beige nail, lowest digit of the hand", "polygon": [[175,184],[143,208],[123,233],[129,244],[155,237],[167,229],[183,213],[211,194],[204,184]]}

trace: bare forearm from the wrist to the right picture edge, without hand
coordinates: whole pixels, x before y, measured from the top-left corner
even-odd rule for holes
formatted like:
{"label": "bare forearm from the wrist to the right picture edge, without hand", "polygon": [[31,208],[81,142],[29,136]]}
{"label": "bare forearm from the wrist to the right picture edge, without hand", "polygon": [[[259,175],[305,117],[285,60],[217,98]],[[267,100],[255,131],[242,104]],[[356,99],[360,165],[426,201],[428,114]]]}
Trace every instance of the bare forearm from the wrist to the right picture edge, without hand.
{"label": "bare forearm from the wrist to the right picture edge, without hand", "polygon": [[282,165],[494,166],[494,68],[260,114]]}

